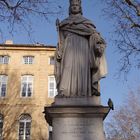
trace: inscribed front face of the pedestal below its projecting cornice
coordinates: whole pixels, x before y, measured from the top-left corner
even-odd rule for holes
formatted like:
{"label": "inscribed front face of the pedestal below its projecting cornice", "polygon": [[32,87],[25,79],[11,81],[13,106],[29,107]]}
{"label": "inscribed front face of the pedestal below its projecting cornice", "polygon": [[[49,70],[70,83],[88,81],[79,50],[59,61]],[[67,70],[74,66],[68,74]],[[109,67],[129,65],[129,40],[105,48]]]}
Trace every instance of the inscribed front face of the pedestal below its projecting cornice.
{"label": "inscribed front face of the pedestal below its projecting cornice", "polygon": [[58,140],[96,140],[98,135],[103,134],[98,131],[102,130],[102,123],[97,118],[63,118],[63,121],[57,118],[55,128],[57,128],[57,131],[54,130],[57,134],[54,132],[54,136]]}

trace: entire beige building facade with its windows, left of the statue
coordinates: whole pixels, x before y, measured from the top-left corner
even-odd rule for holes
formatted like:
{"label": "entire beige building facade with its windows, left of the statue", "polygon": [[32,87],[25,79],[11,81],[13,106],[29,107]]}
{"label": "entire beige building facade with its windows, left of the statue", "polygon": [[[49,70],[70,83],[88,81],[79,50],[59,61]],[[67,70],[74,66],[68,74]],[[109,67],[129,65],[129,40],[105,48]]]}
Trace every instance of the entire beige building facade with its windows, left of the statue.
{"label": "entire beige building facade with its windows, left of the statue", "polygon": [[0,140],[48,140],[54,46],[0,44]]}

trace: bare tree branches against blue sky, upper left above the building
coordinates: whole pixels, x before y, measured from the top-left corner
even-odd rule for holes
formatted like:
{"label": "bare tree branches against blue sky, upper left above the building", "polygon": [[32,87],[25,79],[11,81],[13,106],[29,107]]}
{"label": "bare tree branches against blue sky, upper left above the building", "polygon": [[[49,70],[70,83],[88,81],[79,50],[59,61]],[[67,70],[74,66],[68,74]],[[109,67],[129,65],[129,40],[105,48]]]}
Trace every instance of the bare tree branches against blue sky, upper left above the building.
{"label": "bare tree branches against blue sky, upper left above the building", "polygon": [[[38,20],[48,20],[60,12],[61,6],[57,0],[0,0],[0,22],[6,24],[11,33],[17,25],[30,31],[35,16],[38,16]],[[0,30],[4,33],[2,27]]]}

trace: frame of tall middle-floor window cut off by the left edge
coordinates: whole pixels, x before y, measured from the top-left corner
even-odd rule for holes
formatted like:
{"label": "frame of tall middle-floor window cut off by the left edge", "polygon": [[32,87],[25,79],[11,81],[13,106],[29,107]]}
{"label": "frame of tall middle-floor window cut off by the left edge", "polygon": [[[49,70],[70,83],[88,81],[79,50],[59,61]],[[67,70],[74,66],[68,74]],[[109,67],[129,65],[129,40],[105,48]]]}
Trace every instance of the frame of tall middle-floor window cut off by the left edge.
{"label": "frame of tall middle-floor window cut off by the left edge", "polygon": [[[2,81],[1,80],[1,79],[3,79],[2,77],[6,77],[6,79],[4,79],[4,81]],[[6,85],[5,86],[5,94],[4,94],[4,96],[2,96],[2,85]],[[7,85],[8,85],[8,76],[6,74],[0,74],[0,98],[5,98],[6,97]]]}

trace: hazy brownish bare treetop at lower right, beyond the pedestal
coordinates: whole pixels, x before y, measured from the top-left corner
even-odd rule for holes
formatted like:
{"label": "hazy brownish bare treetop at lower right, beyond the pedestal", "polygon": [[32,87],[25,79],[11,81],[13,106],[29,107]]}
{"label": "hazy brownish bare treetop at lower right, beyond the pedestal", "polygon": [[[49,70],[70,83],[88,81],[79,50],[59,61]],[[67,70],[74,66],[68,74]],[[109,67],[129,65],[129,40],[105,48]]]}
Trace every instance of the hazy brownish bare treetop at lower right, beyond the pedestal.
{"label": "hazy brownish bare treetop at lower right, beyond the pedestal", "polygon": [[107,140],[139,140],[140,138],[140,89],[129,93],[125,103],[106,124]]}

